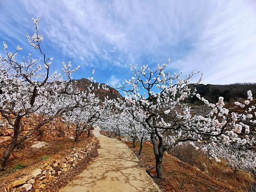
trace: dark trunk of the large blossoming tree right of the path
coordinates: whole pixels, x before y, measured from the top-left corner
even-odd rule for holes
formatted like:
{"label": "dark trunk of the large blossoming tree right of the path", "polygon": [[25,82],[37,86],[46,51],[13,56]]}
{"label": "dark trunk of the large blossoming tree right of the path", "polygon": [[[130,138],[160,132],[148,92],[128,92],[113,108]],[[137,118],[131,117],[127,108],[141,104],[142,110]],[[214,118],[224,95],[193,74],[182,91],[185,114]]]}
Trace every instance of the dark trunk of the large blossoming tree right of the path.
{"label": "dark trunk of the large blossoming tree right of the path", "polygon": [[162,178],[164,178],[164,171],[163,171],[163,166],[162,166],[162,161],[163,161],[163,156],[164,156],[164,148],[162,145],[162,140],[160,140],[159,143],[157,144],[155,136],[156,136],[156,134],[152,133],[150,135],[150,139],[153,144],[154,155],[155,155],[155,160],[156,160],[157,178],[162,179]]}

